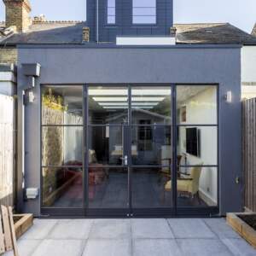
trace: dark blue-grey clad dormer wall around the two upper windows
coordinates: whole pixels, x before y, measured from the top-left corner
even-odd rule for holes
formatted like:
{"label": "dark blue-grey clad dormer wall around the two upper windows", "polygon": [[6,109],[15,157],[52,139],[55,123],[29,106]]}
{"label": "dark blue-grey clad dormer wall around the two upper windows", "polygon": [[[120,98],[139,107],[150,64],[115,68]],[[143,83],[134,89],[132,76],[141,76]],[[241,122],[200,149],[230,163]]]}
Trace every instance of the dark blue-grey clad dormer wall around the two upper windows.
{"label": "dark blue-grey clad dormer wall around the two upper windows", "polygon": [[107,23],[108,1],[98,1],[98,19],[96,0],[87,0],[86,23],[90,27],[90,40],[96,41],[96,20],[100,42],[115,42],[116,36],[169,35],[173,23],[172,0],[156,1],[156,24],[132,24],[132,0],[116,0],[116,23]]}

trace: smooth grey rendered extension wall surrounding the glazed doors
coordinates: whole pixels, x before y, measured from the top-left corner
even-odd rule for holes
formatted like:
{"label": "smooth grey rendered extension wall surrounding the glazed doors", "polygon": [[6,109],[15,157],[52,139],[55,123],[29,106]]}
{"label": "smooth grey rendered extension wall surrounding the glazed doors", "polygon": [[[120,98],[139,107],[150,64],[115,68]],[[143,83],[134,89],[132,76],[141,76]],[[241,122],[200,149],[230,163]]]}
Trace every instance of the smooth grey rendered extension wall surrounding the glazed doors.
{"label": "smooth grey rendered extension wall surrounding the glazed doors", "polygon": [[[42,47],[19,49],[18,87],[27,83],[21,63],[38,62],[35,101],[26,109],[25,178],[40,187],[40,84],[83,83],[216,83],[219,84],[220,211],[241,211],[241,49],[237,46],[170,48]],[[232,91],[232,102],[225,101]],[[19,101],[20,102],[20,101]],[[21,103],[19,103],[21,110]],[[19,125],[21,118],[19,119]],[[21,130],[19,126],[19,135]],[[19,166],[22,167],[21,137]],[[39,200],[26,201],[25,212],[40,212]]]}

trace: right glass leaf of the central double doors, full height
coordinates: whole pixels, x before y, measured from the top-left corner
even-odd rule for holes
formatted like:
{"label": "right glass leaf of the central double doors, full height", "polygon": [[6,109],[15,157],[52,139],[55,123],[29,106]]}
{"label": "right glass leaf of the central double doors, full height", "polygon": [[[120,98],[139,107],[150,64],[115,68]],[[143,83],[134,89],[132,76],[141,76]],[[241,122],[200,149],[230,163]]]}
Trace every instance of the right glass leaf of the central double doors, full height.
{"label": "right glass leaf of the central double doors, full height", "polygon": [[[172,87],[131,86],[131,211],[172,207]],[[171,184],[171,185],[170,185]]]}

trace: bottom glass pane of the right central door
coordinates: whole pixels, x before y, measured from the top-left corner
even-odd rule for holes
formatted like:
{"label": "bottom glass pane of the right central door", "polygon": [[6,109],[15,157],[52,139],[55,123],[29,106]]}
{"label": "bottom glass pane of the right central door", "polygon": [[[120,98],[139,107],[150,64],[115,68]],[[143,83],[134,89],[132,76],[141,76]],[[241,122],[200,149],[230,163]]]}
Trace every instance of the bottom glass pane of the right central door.
{"label": "bottom glass pane of the right central door", "polygon": [[132,207],[172,207],[172,189],[165,189],[171,173],[171,167],[132,168]]}

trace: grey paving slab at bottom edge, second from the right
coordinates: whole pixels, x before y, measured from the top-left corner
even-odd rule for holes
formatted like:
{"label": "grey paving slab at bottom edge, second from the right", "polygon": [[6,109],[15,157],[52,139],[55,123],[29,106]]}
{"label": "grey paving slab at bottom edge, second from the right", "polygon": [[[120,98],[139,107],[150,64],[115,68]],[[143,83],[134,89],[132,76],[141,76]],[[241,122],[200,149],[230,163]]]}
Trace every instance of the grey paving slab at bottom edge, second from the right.
{"label": "grey paving slab at bottom edge, second from the right", "polygon": [[232,256],[230,250],[218,239],[177,239],[186,256]]}

